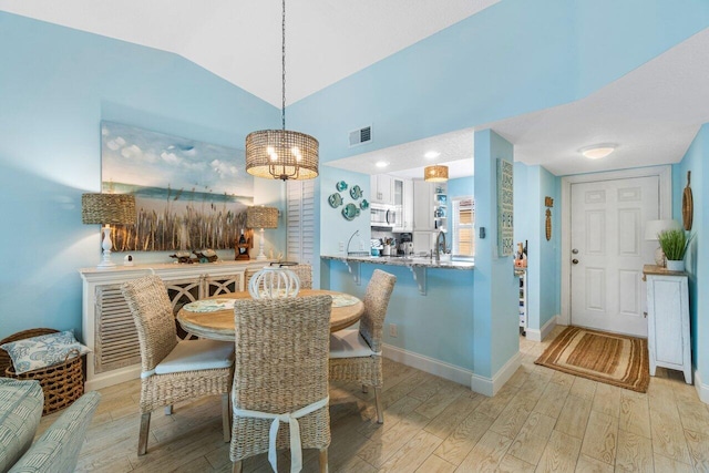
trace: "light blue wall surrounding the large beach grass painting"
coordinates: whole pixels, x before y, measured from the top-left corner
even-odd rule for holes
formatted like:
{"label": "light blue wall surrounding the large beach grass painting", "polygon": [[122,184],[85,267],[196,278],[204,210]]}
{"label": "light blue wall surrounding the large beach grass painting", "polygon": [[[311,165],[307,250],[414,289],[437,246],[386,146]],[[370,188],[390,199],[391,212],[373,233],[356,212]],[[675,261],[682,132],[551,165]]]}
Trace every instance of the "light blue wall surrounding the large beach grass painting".
{"label": "light blue wall surrounding the large beach grass painting", "polygon": [[[101,185],[101,120],[243,148],[279,111],[175,54],[2,12],[0,32],[0,338],[80,333],[78,269],[101,257],[99,226],[81,223],[81,194]],[[264,203],[280,192],[259,189]]]}

